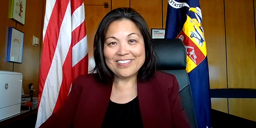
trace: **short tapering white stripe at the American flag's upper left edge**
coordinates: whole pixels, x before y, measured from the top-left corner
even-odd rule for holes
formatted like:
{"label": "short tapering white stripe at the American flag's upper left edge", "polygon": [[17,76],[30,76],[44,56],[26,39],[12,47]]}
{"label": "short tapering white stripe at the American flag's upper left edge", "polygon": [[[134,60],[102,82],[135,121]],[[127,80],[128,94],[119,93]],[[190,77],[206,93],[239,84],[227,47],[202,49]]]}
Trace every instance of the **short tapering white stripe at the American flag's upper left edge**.
{"label": "short tapering white stripe at the American flag's upper left edge", "polygon": [[52,15],[52,10],[53,10],[55,3],[56,3],[56,0],[46,0],[47,9],[45,9],[45,17],[44,17],[43,43],[44,43],[44,36],[46,33],[46,29],[47,29],[47,26],[49,23],[49,19]]}

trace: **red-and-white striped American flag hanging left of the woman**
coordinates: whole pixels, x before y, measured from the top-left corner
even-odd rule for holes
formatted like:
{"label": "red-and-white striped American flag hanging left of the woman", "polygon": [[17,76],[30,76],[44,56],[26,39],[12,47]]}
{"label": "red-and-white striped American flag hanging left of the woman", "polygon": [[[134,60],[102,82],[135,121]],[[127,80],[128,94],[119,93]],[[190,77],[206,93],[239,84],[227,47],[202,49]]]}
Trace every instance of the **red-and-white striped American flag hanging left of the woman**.
{"label": "red-and-white striped American flag hanging left of the woman", "polygon": [[47,0],[38,86],[38,128],[58,111],[77,76],[88,73],[83,0]]}

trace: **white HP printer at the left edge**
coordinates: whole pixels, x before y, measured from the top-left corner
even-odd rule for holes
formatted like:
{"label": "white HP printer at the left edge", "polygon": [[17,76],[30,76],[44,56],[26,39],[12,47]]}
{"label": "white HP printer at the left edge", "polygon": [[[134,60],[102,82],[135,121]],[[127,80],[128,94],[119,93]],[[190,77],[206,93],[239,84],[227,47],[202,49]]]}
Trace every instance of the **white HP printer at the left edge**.
{"label": "white HP printer at the left edge", "polygon": [[22,74],[0,70],[0,121],[20,113]]}

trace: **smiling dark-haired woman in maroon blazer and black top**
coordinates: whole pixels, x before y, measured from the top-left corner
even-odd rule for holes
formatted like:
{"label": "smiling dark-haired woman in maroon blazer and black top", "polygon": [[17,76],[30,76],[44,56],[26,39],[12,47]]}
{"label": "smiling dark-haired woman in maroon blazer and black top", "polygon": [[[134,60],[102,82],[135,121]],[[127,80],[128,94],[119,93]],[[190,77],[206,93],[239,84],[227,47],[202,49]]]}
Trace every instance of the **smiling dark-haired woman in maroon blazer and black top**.
{"label": "smiling dark-haired woman in maroon blazer and black top", "polygon": [[41,128],[190,128],[177,79],[156,71],[152,39],[138,12],[109,12],[93,50],[96,73],[79,76]]}

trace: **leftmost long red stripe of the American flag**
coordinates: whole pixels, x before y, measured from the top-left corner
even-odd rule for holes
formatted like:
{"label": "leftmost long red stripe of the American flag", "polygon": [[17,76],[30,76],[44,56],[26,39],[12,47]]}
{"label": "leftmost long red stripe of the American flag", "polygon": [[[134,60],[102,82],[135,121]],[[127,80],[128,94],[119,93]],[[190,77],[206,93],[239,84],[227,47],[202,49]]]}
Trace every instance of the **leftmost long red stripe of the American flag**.
{"label": "leftmost long red stripe of the American flag", "polygon": [[56,0],[52,9],[51,17],[44,36],[44,44],[41,58],[40,79],[38,87],[38,106],[44,90],[44,84],[47,79],[55,49],[58,43],[61,23],[67,10],[69,0]]}

